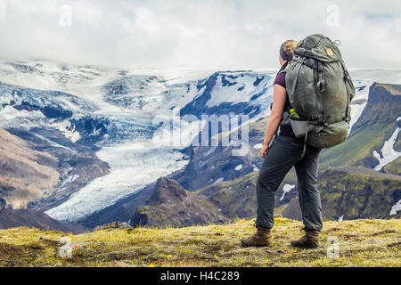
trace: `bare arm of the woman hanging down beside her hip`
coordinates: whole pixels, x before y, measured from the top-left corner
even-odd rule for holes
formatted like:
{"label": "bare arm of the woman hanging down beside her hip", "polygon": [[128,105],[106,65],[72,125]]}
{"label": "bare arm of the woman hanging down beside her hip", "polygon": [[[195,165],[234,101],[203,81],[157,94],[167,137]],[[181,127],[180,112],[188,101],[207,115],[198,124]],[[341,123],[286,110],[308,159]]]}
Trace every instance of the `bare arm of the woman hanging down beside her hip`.
{"label": "bare arm of the woman hanging down beside her hip", "polygon": [[262,158],[265,158],[265,152],[268,150],[269,144],[272,141],[278,126],[280,125],[286,96],[287,92],[285,88],[282,87],[282,85],[274,84],[272,112],[270,113],[270,117],[266,126],[265,141],[263,142],[263,147],[260,150],[260,156]]}

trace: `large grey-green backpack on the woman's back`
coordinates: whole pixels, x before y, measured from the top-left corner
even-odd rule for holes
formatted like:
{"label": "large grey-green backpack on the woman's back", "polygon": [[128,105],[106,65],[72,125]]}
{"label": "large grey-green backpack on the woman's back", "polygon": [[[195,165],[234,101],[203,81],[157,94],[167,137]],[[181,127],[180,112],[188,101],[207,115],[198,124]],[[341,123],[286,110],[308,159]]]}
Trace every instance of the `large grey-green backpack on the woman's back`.
{"label": "large grey-green backpack on the woman's back", "polygon": [[344,142],[355,88],[337,45],[323,35],[301,40],[285,83],[291,107],[300,117],[291,117],[294,134],[319,149]]}

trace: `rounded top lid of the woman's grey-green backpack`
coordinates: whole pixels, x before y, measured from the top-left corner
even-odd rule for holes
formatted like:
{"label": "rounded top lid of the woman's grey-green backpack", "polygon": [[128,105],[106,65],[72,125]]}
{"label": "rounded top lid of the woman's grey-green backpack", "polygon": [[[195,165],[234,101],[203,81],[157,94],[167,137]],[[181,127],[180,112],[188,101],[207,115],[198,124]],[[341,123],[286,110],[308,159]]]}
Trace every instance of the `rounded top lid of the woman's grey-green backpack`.
{"label": "rounded top lid of the woman's grey-green backpack", "polygon": [[342,60],[337,45],[329,37],[321,34],[311,35],[301,40],[294,49],[294,55],[324,62]]}

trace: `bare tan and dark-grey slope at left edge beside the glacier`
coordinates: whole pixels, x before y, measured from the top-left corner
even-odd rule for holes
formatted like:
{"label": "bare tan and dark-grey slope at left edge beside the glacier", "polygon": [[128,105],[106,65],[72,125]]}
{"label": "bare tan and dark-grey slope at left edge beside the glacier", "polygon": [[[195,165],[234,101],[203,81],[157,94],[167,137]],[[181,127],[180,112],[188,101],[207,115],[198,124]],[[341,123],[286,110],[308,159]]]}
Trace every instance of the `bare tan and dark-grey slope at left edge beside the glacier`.
{"label": "bare tan and dark-grey slope at left edge beside the glacier", "polygon": [[85,145],[72,147],[66,141],[63,135],[46,129],[0,128],[0,198],[12,208],[46,210],[109,172],[94,151]]}

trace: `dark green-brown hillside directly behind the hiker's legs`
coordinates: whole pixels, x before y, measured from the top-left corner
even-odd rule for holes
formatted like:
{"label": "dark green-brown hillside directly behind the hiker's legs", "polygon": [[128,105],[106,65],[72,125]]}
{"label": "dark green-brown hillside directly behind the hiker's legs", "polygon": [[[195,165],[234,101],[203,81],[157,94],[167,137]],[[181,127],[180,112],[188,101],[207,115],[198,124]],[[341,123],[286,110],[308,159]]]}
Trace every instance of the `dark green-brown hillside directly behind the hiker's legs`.
{"label": "dark green-brown hillside directly behind the hiker's legs", "polygon": [[[196,191],[228,217],[256,216],[258,172],[233,181],[217,183]],[[275,212],[300,220],[296,176],[289,173],[275,195]],[[294,185],[293,188],[285,185]],[[401,199],[401,177],[386,175],[364,167],[329,168],[320,172],[317,188],[321,193],[323,217],[391,218],[392,208]]]}

